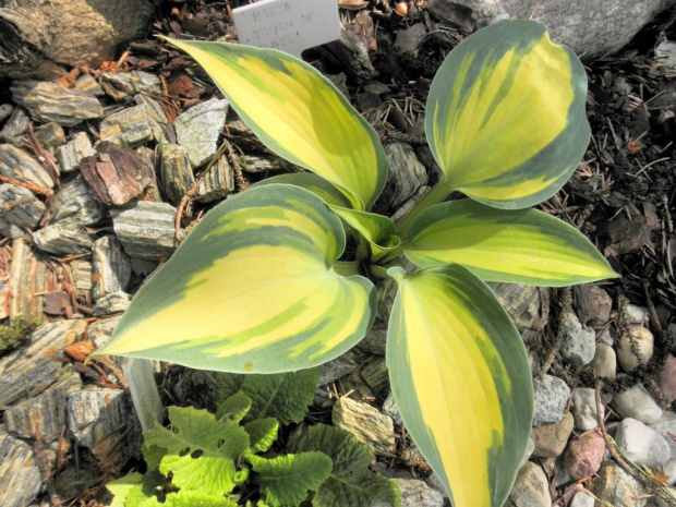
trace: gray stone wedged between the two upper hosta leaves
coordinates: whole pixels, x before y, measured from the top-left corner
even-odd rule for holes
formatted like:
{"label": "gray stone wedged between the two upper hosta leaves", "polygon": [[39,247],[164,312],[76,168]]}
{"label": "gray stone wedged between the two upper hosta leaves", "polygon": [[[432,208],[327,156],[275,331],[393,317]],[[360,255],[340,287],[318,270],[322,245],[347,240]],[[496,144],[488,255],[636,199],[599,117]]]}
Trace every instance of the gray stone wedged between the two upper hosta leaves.
{"label": "gray stone wedged between the two upper hosta leaves", "polygon": [[385,146],[387,156],[387,183],[378,200],[378,207],[396,209],[418,190],[427,184],[427,171],[406,143],[389,143]]}

